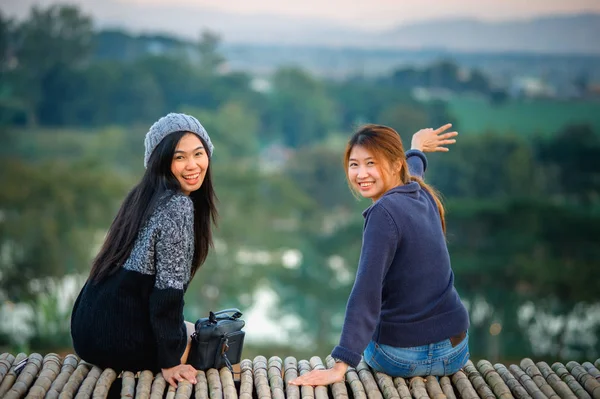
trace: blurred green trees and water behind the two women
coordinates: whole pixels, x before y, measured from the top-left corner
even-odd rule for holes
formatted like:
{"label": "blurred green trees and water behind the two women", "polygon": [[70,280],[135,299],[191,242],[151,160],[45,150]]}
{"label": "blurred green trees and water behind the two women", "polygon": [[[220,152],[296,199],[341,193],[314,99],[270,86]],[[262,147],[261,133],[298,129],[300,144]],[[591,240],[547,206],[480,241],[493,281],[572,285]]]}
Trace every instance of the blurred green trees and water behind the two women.
{"label": "blurred green trees and water behind the two women", "polygon": [[[514,99],[451,60],[372,78],[257,76],[227,70],[215,33],[156,36],[157,52],[92,22],[72,6],[0,13],[0,346],[72,351],[71,304],[142,174],[144,134],[180,111],[214,138],[221,215],[186,315],[270,297],[276,330],[248,319],[245,356],[336,343],[368,206],[344,180],[352,129],[389,124],[409,143],[447,121],[459,143],[429,157],[427,179],[445,197],[472,355],[600,355],[597,100]],[[418,99],[423,86],[452,95]]]}

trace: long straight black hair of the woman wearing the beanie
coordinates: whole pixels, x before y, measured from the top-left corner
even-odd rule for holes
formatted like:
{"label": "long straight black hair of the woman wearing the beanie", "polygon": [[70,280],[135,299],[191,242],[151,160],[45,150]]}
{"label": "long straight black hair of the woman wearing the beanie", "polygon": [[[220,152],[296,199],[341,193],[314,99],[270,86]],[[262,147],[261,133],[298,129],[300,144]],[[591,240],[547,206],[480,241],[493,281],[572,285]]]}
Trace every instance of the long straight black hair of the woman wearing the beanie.
{"label": "long straight black hair of the woman wearing the beanie", "polygon": [[[113,220],[100,252],[92,263],[89,280],[101,281],[115,273],[127,260],[138,233],[152,215],[167,191],[180,191],[181,185],[171,172],[171,163],[177,144],[189,132],[167,135],[154,149],[142,180],[127,194]],[[206,142],[198,136],[206,149]],[[194,257],[192,277],[204,263],[213,245],[212,224],[217,223],[217,197],[212,184],[210,162],[200,188],[190,193],[194,203]]]}

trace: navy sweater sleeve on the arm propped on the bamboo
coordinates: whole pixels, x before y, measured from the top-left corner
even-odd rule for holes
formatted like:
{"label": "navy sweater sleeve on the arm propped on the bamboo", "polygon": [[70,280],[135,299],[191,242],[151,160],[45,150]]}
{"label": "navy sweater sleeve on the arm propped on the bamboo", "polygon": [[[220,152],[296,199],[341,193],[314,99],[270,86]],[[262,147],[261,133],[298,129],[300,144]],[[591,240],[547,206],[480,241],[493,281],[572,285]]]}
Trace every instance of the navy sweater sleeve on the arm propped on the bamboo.
{"label": "navy sweater sleeve on the arm propped on the bamboo", "polygon": [[387,210],[381,204],[374,205],[365,220],[360,261],[340,342],[331,353],[352,367],[358,366],[379,321],[383,280],[398,240],[398,229]]}

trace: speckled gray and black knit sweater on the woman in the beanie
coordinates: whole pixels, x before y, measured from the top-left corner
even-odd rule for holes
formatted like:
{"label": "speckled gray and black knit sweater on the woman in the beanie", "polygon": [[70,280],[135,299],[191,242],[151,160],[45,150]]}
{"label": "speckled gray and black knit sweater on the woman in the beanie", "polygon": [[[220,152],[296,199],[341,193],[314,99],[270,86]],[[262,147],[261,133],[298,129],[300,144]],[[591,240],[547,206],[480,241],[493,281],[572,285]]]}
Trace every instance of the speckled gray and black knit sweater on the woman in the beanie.
{"label": "speckled gray and black knit sweater on the woman in the beanie", "polygon": [[119,271],[87,282],[71,317],[77,354],[100,367],[152,370],[180,364],[187,344],[184,294],[194,254],[194,207],[169,192]]}

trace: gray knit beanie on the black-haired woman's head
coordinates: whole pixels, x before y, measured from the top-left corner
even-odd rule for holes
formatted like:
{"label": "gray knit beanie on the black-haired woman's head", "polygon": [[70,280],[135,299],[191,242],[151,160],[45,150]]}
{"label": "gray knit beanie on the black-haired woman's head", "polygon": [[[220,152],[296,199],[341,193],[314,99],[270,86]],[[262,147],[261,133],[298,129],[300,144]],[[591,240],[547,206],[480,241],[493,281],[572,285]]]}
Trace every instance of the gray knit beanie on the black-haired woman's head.
{"label": "gray knit beanie on the black-haired woman's head", "polygon": [[212,157],[214,147],[210,141],[210,137],[208,137],[208,133],[206,133],[206,129],[198,122],[198,119],[191,115],[170,113],[154,122],[148,133],[146,133],[146,139],[144,140],[144,147],[146,148],[144,168],[148,167],[150,155],[152,155],[152,151],[154,151],[158,143],[169,134],[175,132],[191,132],[200,136],[208,146],[208,156]]}

